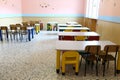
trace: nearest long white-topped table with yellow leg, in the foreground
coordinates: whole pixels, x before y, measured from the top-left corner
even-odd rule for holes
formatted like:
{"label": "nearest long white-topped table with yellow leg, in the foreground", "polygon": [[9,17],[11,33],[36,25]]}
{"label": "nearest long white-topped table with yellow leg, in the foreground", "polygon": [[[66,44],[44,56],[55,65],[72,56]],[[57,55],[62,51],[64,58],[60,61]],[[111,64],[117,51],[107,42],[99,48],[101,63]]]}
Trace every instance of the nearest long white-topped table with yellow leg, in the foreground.
{"label": "nearest long white-topped table with yellow leg, in the foreground", "polygon": [[105,45],[116,45],[111,41],[56,41],[56,72],[60,71],[60,54],[64,50],[84,50],[87,45],[100,45],[101,50]]}

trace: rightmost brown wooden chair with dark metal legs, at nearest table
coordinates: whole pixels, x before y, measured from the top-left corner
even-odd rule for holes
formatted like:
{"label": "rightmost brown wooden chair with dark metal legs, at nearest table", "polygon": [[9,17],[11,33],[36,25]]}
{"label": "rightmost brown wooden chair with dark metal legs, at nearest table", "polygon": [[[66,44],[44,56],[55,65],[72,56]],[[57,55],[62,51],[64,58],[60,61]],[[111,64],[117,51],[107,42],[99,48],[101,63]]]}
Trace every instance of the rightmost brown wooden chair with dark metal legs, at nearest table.
{"label": "rightmost brown wooden chair with dark metal legs, at nearest table", "polygon": [[102,51],[101,54],[99,54],[99,57],[103,61],[103,76],[105,76],[106,62],[108,62],[109,66],[109,61],[114,61],[114,75],[116,76],[116,58],[119,47],[119,45],[106,45],[104,47],[104,51]]}

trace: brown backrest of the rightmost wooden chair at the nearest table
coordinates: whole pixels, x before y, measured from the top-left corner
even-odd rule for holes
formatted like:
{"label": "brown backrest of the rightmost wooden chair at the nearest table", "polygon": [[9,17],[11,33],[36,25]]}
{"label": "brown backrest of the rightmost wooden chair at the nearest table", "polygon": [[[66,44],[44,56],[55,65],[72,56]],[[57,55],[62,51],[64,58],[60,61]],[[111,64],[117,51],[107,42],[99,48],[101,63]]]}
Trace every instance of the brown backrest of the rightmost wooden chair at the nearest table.
{"label": "brown backrest of the rightmost wooden chair at the nearest table", "polygon": [[109,52],[111,52],[111,53],[115,53],[115,57],[117,56],[117,53],[118,53],[118,51],[119,51],[119,45],[106,45],[105,47],[104,47],[104,51],[105,51],[105,54],[106,54],[106,56],[108,55],[108,53]]}

